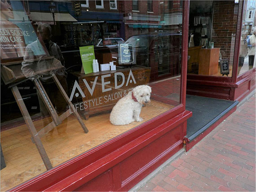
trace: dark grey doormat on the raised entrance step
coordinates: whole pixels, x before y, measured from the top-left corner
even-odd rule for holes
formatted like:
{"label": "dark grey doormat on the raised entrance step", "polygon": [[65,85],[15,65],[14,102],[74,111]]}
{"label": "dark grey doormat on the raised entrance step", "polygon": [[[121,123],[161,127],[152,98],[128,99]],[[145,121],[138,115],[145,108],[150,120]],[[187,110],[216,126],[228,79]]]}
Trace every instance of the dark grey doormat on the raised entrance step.
{"label": "dark grey doormat on the raised entrance step", "polygon": [[193,140],[237,104],[238,101],[186,95],[186,110],[193,113],[187,121],[186,138]]}

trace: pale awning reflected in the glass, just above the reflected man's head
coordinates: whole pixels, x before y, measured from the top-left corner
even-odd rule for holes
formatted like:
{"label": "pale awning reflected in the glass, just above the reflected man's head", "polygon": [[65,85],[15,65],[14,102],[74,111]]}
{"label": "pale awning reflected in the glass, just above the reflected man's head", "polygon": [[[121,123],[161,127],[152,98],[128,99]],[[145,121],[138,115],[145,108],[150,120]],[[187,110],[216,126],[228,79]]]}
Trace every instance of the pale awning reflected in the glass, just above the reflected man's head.
{"label": "pale awning reflected in the glass, just above the reflected man's head", "polygon": [[[69,13],[55,13],[56,22],[77,22],[77,20],[72,17]],[[30,18],[32,21],[51,21],[53,22],[53,16],[51,13],[44,12],[31,12]]]}

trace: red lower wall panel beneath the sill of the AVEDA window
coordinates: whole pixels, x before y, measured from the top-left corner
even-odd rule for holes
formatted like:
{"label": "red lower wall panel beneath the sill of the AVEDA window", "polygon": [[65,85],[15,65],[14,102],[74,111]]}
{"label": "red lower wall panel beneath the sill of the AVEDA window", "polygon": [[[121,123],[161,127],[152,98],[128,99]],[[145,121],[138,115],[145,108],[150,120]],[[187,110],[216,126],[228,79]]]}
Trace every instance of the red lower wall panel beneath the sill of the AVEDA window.
{"label": "red lower wall panel beneath the sill of the AVEDA window", "polygon": [[[191,112],[185,119],[190,116]],[[164,135],[74,191],[128,191],[183,148],[185,119],[180,119],[180,124],[172,124],[173,127],[166,124],[169,131]]]}

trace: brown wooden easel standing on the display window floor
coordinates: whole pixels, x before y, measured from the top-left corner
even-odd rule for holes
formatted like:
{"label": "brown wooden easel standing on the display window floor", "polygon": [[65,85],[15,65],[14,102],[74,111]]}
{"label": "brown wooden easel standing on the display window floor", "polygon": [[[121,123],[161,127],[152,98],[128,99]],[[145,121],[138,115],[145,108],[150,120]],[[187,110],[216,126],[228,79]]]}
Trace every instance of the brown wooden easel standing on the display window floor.
{"label": "brown wooden easel standing on the display window floor", "polygon": [[[56,60],[54,58],[50,58],[53,60]],[[59,61],[58,61],[59,62]],[[12,63],[12,64],[18,64],[17,62]],[[19,63],[20,64],[20,63]],[[54,68],[51,68],[49,71],[55,70],[55,69],[59,69],[61,68],[62,65],[58,65],[55,66]],[[15,71],[15,70],[17,71]],[[51,131],[54,127],[57,127],[58,125],[60,125],[62,123],[62,121],[64,119],[66,119],[69,115],[71,115],[70,111],[67,110],[66,112],[64,112],[62,115],[58,116],[55,108],[53,107],[53,104],[51,102],[51,100],[49,99],[49,96],[47,95],[47,93],[44,90],[44,86],[42,85],[41,81],[40,81],[40,72],[36,73],[36,77],[31,79],[32,81],[34,81],[35,83],[35,87],[37,88],[37,90],[39,91],[40,97],[42,98],[44,105],[46,106],[47,110],[49,111],[49,114],[51,115],[53,121],[51,123],[49,123],[47,126],[45,126],[43,129],[41,129],[40,131],[36,131],[35,129],[35,125],[31,119],[30,114],[28,113],[28,110],[26,108],[26,105],[22,99],[22,96],[18,90],[17,85],[25,82],[28,79],[24,79],[24,75],[17,75],[17,74],[22,74],[22,72],[20,72],[19,70],[21,70],[21,66],[17,65],[17,67],[14,68],[9,68],[8,65],[1,65],[1,75],[3,76],[3,80],[5,84],[9,84],[9,82],[17,82],[19,79],[20,81],[18,81],[18,83],[14,83],[12,85],[9,86],[9,88],[11,88],[12,92],[13,92],[13,96],[18,104],[18,107],[22,113],[22,116],[26,122],[26,125],[30,131],[31,134],[31,139],[32,142],[35,143],[37,150],[40,153],[40,156],[44,162],[44,165],[46,167],[47,170],[53,168],[49,157],[44,149],[44,146],[40,140],[40,137],[44,136],[45,133],[48,133],[49,131]],[[41,71],[41,72],[47,72],[47,70]],[[84,122],[82,121],[81,117],[79,116],[79,114],[77,113],[74,105],[72,105],[71,101],[69,101],[68,96],[66,95],[65,90],[63,89],[61,83],[59,82],[59,80],[57,79],[56,75],[54,73],[52,73],[52,77],[54,82],[56,83],[58,89],[60,90],[60,92],[62,93],[62,96],[64,97],[64,99],[66,100],[67,104],[69,105],[72,113],[75,114],[75,117],[78,119],[79,124],[81,125],[81,127],[83,128],[85,133],[88,133],[88,129],[87,127],[84,125]],[[24,79],[24,80],[21,80]]]}

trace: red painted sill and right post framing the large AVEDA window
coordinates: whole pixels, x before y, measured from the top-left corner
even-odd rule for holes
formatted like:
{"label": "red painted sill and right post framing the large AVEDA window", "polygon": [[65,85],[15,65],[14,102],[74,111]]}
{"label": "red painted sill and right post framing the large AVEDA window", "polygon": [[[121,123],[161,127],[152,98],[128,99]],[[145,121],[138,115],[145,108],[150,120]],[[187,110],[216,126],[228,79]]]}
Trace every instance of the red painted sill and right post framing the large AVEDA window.
{"label": "red painted sill and right post framing the large AVEDA window", "polygon": [[[107,157],[108,154],[118,151],[117,149],[121,147],[124,148],[125,144],[146,135],[147,132],[153,130],[155,127],[161,127],[161,125],[170,120],[173,125],[175,125],[179,119],[191,116],[191,112],[185,111],[189,4],[189,1],[184,2],[182,17],[181,104],[153,119],[150,119],[138,127],[125,132],[124,134],[118,135],[106,143],[103,143],[65,163],[62,163],[59,166],[54,167],[52,170],[46,171],[41,175],[10,189],[9,191],[48,191],[48,189],[50,190],[53,185],[56,185],[56,183],[62,183],[63,179],[77,173],[79,170],[89,165],[93,167],[93,170],[88,170],[90,171],[90,174],[88,174],[87,179],[93,179],[97,175],[101,174],[103,170],[107,169],[107,167],[114,166],[114,162],[111,162],[107,167],[105,167],[104,162],[102,162],[102,165],[93,165],[95,161],[102,157]],[[67,190],[67,188],[63,186],[63,183],[56,189],[58,191]]]}

